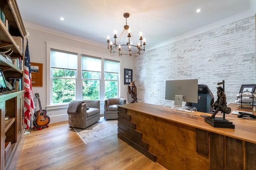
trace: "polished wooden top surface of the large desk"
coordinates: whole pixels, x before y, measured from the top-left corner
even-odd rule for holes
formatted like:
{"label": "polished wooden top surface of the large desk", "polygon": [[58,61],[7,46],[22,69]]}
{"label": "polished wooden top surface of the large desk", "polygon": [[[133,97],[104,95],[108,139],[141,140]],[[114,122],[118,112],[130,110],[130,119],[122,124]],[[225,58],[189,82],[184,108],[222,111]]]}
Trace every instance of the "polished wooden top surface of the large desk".
{"label": "polished wooden top surface of the large desk", "polygon": [[[234,129],[229,129],[212,127],[208,123],[204,122],[203,117],[200,117],[201,114],[211,115],[210,113],[202,113],[199,111],[195,111],[194,113],[192,113],[193,115],[190,115],[190,113],[188,112],[176,111],[166,106],[159,106],[146,103],[131,103],[124,104],[118,107],[174,121],[198,129],[210,131],[213,133],[218,133],[220,135],[233,137],[243,141],[256,143],[256,119],[240,119],[237,118],[237,115],[233,115],[231,113],[226,114],[226,119],[232,121],[233,124],[235,125]],[[228,107],[230,107],[232,110],[236,110],[236,104],[230,104],[228,105]],[[216,115],[216,117],[222,117],[220,112]]]}

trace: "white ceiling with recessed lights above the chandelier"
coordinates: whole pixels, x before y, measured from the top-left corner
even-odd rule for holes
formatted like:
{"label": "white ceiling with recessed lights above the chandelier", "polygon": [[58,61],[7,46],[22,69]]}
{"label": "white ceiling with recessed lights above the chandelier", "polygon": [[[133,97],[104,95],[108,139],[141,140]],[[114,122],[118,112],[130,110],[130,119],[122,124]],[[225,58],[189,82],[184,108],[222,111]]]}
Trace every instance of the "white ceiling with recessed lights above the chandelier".
{"label": "white ceiling with recessed lights above the chandelier", "polygon": [[[230,16],[250,11],[254,0],[16,0],[25,27],[37,25],[98,45],[114,29],[127,25],[134,37],[142,31],[147,47]],[[196,10],[200,8],[201,12]],[[255,14],[255,12],[254,12]],[[61,21],[60,17],[64,20]],[[30,35],[31,36],[31,35]],[[107,45],[106,45],[107,46]]]}

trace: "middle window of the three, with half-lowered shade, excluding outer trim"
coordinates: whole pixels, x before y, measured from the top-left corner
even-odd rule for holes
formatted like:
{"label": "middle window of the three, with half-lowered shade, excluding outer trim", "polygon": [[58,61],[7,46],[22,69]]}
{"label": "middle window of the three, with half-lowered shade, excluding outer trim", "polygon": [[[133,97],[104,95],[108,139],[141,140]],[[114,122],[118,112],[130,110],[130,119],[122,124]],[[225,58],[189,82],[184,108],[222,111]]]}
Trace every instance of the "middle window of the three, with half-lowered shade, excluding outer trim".
{"label": "middle window of the three, with half-lowered shade, excluding outer trim", "polygon": [[100,100],[101,59],[82,56],[83,100]]}

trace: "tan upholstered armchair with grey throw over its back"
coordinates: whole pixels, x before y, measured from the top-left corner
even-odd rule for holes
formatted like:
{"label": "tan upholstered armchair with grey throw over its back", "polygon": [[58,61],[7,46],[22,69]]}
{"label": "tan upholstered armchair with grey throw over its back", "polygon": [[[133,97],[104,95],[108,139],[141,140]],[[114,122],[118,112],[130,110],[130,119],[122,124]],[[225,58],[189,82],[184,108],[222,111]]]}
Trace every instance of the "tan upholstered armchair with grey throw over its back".
{"label": "tan upholstered armchair with grey throw over its back", "polygon": [[[100,100],[83,100],[77,114],[68,114],[71,127],[86,128],[100,120]],[[86,107],[89,107],[87,110]]]}

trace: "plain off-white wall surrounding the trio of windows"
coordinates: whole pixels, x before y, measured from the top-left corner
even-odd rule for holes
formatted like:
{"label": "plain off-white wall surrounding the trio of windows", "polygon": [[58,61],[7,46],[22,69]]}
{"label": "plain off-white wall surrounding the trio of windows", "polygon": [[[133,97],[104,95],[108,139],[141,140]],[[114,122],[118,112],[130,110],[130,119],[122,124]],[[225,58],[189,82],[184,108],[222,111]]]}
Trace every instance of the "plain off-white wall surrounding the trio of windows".
{"label": "plain off-white wall surrounding the trio of windows", "polygon": [[[29,25],[29,24],[27,24]],[[29,25],[30,26],[30,25]],[[26,27],[26,23],[25,23]],[[102,54],[109,56],[109,59],[115,59],[110,56],[107,44],[106,47],[101,47],[99,45],[92,45],[90,43],[85,43],[80,40],[76,40],[73,37],[68,38],[66,35],[62,36],[59,33],[53,33],[51,31],[44,31],[43,29],[35,29],[26,27],[29,31],[30,36],[28,37],[28,48],[30,52],[30,62],[42,63],[43,64],[43,86],[42,87],[32,87],[33,94],[38,93],[40,95],[40,101],[42,109],[47,110],[47,115],[50,117],[50,123],[55,123],[59,121],[68,120],[67,106],[60,107],[46,107],[46,85],[49,83],[49,77],[46,76],[46,42],[63,45],[65,47],[82,49],[84,51],[91,51],[95,54]],[[98,56],[96,56],[98,57]],[[116,58],[117,59],[117,58]],[[119,58],[118,58],[119,59]],[[127,98],[127,86],[124,85],[124,68],[134,69],[134,57],[123,56],[120,59],[121,72],[120,72],[120,96]],[[35,110],[39,110],[37,98],[34,97],[35,105],[37,106]],[[104,111],[104,101],[101,101],[101,113]],[[32,121],[31,121],[32,122]]]}

